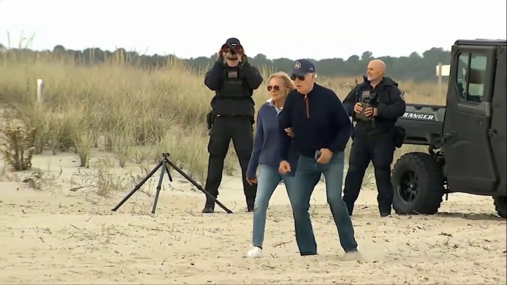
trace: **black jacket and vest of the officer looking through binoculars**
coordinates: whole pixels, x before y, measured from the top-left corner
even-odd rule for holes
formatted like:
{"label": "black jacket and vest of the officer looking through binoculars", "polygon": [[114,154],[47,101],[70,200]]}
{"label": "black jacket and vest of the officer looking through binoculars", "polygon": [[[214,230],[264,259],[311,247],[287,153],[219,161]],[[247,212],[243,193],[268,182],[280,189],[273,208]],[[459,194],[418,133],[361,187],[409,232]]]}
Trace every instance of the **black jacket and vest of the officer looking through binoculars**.
{"label": "black jacket and vest of the officer looking through binoculars", "polygon": [[[241,91],[237,91],[239,88],[231,84],[236,91],[233,97],[221,96],[223,93],[231,93],[225,90],[227,85],[224,84],[225,80],[228,79],[229,72],[234,73],[237,78],[233,79],[243,85]],[[230,78],[229,78],[230,80]],[[243,115],[253,117],[255,114],[255,102],[252,99],[253,90],[259,88],[263,78],[259,70],[250,65],[250,63],[239,63],[238,66],[231,67],[221,60],[216,61],[211,69],[206,73],[204,78],[204,84],[211,90],[215,91],[215,96],[211,100],[211,108],[215,115]],[[231,86],[229,85],[229,86]]]}

